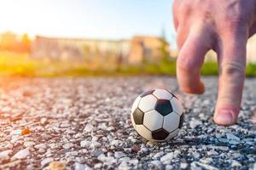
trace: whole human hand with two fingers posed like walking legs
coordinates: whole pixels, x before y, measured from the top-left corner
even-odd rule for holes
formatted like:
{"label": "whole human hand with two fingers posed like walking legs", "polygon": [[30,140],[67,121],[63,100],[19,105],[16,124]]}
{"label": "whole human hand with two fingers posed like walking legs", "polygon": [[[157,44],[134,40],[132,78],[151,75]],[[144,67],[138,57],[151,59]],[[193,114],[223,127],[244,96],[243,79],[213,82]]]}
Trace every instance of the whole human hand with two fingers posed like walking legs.
{"label": "whole human hand with two fingers posed like walking legs", "polygon": [[218,99],[214,122],[237,121],[245,81],[247,38],[256,32],[255,0],[174,0],[177,31],[177,82],[190,94],[205,91],[200,69],[205,54],[218,54]]}

